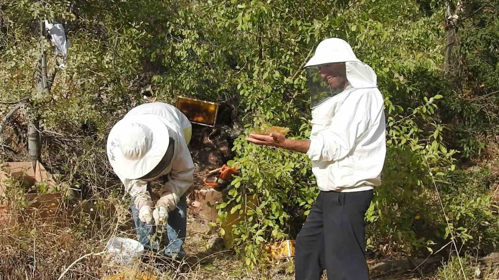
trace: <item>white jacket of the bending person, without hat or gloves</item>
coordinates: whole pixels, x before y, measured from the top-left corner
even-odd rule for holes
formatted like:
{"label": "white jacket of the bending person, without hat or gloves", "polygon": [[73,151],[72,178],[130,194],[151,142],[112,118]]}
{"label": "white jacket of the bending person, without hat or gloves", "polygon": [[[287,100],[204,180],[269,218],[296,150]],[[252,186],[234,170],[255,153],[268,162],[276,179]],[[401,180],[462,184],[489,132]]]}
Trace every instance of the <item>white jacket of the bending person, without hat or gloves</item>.
{"label": "white jacket of the bending person, without hat or gloves", "polygon": [[[168,125],[169,136],[175,140],[175,151],[172,162],[153,180],[162,175],[169,174],[169,180],[163,186],[160,201],[166,198],[169,201],[174,201],[174,205],[176,205],[180,197],[194,183],[194,162],[187,147],[191,140],[191,123],[180,110],[170,104],[161,102],[139,105],[130,110],[124,118],[133,118],[133,116],[140,114],[156,114],[163,117],[167,120],[165,123]],[[147,191],[146,181],[140,179],[130,180],[121,174],[117,173],[117,175],[125,185],[125,190],[135,197],[137,209],[143,205],[154,206],[152,198]]]}

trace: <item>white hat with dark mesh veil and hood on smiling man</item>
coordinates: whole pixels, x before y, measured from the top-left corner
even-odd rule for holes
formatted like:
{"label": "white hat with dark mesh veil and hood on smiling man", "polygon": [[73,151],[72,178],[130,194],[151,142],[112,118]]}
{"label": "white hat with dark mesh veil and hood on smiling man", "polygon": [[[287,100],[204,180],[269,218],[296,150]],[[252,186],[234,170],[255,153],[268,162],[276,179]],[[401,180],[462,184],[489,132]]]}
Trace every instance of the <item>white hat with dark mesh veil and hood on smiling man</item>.
{"label": "white hat with dark mesh veil and hood on smiling man", "polygon": [[[345,72],[327,69],[340,69],[344,65]],[[305,64],[312,108],[317,107],[331,97],[352,88],[375,88],[377,77],[373,69],[360,61],[353,53],[352,47],[340,38],[328,38],[319,43],[315,54]],[[346,74],[348,86],[333,88],[328,83],[338,73]]]}

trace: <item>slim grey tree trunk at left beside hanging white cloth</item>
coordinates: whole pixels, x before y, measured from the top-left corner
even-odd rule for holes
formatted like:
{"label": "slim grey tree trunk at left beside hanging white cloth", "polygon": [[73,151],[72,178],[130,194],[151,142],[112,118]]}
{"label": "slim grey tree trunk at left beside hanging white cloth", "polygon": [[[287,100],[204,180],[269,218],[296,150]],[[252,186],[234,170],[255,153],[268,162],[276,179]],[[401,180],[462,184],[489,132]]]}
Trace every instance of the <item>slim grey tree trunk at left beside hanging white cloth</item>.
{"label": "slim grey tree trunk at left beside hanging white cloth", "polygon": [[[43,6],[43,1],[40,1]],[[45,38],[45,26],[43,18],[39,18],[40,23],[40,38],[38,39],[38,86],[35,99],[40,99],[48,95],[48,84],[47,84],[47,59],[45,56],[45,48],[43,46],[43,39]],[[26,110],[27,120],[28,120],[28,154],[29,161],[36,171],[36,161],[40,160],[41,154],[41,136],[39,132],[40,116],[37,112],[37,108],[32,108]]]}

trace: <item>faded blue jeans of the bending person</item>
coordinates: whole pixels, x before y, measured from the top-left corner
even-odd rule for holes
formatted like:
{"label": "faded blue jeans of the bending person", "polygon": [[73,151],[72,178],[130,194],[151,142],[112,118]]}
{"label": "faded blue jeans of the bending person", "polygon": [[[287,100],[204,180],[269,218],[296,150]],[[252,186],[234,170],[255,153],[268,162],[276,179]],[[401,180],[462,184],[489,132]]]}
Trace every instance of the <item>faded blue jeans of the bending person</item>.
{"label": "faded blue jeans of the bending person", "polygon": [[[147,187],[149,193],[151,188]],[[152,197],[152,194],[151,194]],[[144,223],[139,219],[139,209],[135,208],[134,198],[131,197],[130,208],[135,223],[135,231],[139,236],[139,242],[144,245],[145,250],[164,252],[164,255],[172,259],[182,259],[185,256],[183,248],[187,232],[187,201],[184,194],[176,208],[168,213],[168,224],[166,226],[156,226],[152,223]],[[159,228],[161,236],[157,236],[156,230]]]}

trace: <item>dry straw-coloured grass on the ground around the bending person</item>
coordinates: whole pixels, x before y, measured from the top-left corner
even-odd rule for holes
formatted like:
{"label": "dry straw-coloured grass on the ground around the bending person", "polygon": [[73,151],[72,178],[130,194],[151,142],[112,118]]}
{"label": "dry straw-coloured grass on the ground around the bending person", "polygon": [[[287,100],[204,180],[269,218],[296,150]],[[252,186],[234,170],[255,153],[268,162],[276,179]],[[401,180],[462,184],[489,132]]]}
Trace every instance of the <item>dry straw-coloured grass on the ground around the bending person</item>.
{"label": "dry straw-coloured grass on the ground around the bending person", "polygon": [[111,237],[136,239],[128,203],[124,198],[94,196],[60,207],[57,218],[50,223],[22,210],[12,210],[12,221],[0,225],[0,279],[58,279],[68,267],[62,279],[105,279],[111,275],[122,276],[116,279],[147,279],[139,277],[143,273],[156,277],[150,279],[294,279],[293,274],[286,273],[292,267],[287,263],[248,273],[244,262],[224,250],[222,244],[209,247],[209,241],[217,239],[217,235],[197,234],[189,229],[187,256],[179,262],[149,255],[123,267],[102,254],[89,255],[71,266],[82,256],[102,252]]}

